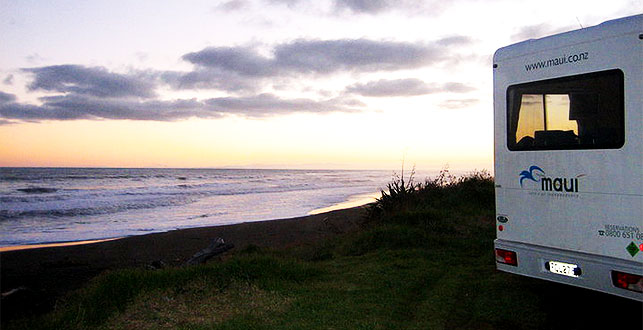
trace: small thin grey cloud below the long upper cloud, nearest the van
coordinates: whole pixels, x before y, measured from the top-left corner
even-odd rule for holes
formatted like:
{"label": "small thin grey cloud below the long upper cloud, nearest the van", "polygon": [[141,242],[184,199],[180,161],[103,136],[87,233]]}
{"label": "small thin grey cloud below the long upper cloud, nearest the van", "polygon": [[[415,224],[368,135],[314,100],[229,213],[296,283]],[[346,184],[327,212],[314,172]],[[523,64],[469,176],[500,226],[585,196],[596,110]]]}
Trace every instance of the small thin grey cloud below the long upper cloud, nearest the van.
{"label": "small thin grey cloud below the long upper cloud, nearest the van", "polygon": [[381,79],[368,83],[357,83],[346,88],[347,93],[370,97],[417,96],[440,92],[466,93],[475,88],[462,83],[427,84],[415,79]]}

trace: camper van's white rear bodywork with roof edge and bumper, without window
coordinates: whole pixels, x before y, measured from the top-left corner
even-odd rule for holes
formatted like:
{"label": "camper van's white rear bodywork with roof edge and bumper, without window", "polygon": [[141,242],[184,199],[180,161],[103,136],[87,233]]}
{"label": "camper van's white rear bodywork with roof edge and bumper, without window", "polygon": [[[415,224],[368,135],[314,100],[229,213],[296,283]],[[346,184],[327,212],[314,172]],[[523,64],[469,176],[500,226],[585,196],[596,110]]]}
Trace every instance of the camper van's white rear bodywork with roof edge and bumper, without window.
{"label": "camper van's white rear bodywork with roof edge and bumper, without window", "polygon": [[[638,15],[496,52],[497,228],[502,225],[496,247],[519,252],[518,267],[498,264],[500,270],[643,301],[643,294],[605,282],[615,267],[643,275],[642,33],[643,15]],[[508,149],[510,86],[614,69],[623,72],[622,147]],[[578,279],[552,274],[543,265],[556,258],[586,269]]]}

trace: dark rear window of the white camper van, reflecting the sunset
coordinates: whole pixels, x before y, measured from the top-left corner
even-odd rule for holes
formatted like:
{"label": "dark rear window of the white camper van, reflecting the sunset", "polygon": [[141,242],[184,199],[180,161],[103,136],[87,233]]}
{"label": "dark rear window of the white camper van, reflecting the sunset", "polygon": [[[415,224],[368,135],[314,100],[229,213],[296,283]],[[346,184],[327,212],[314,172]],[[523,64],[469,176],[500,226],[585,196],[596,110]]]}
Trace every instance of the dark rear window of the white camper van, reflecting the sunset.
{"label": "dark rear window of the white camper van, reflecting the sunset", "polygon": [[516,151],[620,148],[623,95],[621,70],[510,86],[507,146]]}

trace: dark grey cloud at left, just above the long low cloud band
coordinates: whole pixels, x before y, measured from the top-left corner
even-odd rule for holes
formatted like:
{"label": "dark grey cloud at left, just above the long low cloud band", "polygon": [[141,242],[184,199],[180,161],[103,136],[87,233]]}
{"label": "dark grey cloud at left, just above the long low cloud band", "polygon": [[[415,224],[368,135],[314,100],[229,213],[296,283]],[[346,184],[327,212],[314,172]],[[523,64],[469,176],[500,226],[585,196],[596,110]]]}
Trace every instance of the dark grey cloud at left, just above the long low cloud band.
{"label": "dark grey cloud at left, just above the long low cloud band", "polygon": [[154,84],[136,77],[108,72],[101,67],[54,65],[23,69],[33,74],[30,90],[96,97],[153,97]]}

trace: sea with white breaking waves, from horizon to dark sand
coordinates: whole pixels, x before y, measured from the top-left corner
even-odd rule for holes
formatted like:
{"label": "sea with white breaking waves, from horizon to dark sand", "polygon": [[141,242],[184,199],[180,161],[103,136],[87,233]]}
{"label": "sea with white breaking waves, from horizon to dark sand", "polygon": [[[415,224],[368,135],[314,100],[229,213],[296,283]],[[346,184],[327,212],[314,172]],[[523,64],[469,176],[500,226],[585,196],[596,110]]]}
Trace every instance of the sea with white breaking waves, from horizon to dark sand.
{"label": "sea with white breaking waves, from horizon to dark sand", "polygon": [[303,216],[356,198],[373,201],[392,174],[0,168],[0,247]]}

